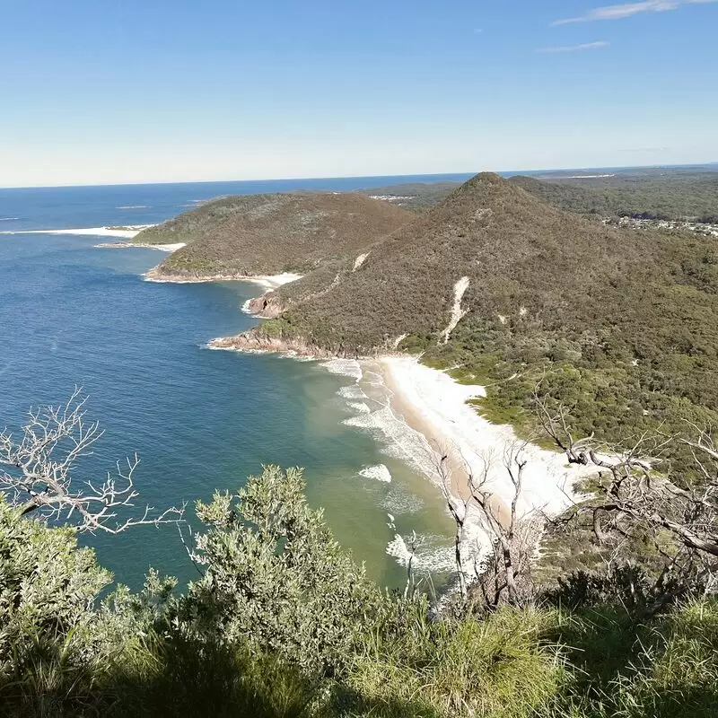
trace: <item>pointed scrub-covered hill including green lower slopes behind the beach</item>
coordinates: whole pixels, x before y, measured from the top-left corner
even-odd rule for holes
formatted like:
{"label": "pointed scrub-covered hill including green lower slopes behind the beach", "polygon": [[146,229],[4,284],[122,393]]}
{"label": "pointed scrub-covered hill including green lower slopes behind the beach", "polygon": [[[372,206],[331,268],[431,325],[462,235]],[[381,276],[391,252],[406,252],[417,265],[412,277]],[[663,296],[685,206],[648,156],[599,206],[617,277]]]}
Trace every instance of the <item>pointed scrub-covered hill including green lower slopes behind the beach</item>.
{"label": "pointed scrub-covered hill including green lower slopes behind the beach", "polygon": [[422,350],[488,383],[497,421],[527,419],[541,377],[589,433],[718,421],[712,238],[617,230],[480,174],[355,264],[280,288],[257,333]]}

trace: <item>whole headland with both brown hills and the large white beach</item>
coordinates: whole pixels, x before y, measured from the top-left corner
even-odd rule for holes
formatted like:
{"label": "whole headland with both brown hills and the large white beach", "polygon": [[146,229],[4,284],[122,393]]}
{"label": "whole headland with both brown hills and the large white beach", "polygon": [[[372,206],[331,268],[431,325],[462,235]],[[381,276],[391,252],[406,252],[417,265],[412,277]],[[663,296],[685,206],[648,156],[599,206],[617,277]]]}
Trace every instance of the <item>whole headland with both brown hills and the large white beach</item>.
{"label": "whole headland with both brown hills and the large white beach", "polygon": [[[541,521],[582,500],[576,485],[595,468],[576,468],[538,440],[538,390],[572,407],[579,432],[598,429],[607,441],[623,426],[684,420],[668,385],[658,402],[647,389],[660,384],[667,329],[685,332],[652,304],[687,302],[682,316],[705,319],[713,295],[695,302],[671,287],[690,281],[703,251],[696,242],[707,238],[667,241],[613,226],[591,214],[590,190],[491,173],[443,188],[424,211],[372,197],[223,197],[129,243],[177,248],[148,281],[264,288],[242,307],[262,321],[208,348],[340,358],[380,376],[385,409],[416,433],[407,460],[449,501],[464,503],[468,477],[480,477],[505,517],[512,451],[526,460],[521,519]],[[652,345],[639,347],[639,337]],[[685,381],[695,385],[696,370]],[[607,381],[621,407],[608,424],[599,418]],[[646,388],[638,400],[635,386]],[[475,533],[480,551],[489,539],[478,517]]]}

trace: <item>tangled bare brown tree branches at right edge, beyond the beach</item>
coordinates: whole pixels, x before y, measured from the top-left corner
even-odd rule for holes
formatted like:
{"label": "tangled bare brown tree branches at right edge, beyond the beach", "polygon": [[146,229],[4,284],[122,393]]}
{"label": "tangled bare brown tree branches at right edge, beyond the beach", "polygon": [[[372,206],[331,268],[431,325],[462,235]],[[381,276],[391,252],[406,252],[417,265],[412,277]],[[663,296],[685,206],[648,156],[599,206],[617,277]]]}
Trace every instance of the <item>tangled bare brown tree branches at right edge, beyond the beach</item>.
{"label": "tangled bare brown tree branches at right edge, beyond the beach", "polygon": [[[568,411],[550,398],[536,396],[538,416],[547,434],[572,463],[594,466],[599,477],[595,496],[574,503],[562,521],[588,518],[596,540],[649,538],[661,556],[653,587],[662,600],[688,585],[713,582],[718,567],[718,444],[710,431],[687,424],[689,436],[643,433],[629,448],[576,440]],[[687,447],[692,460],[672,465],[666,453]],[[675,462],[674,462],[675,463]],[[698,480],[687,481],[693,472]],[[674,589],[668,589],[672,583]]]}

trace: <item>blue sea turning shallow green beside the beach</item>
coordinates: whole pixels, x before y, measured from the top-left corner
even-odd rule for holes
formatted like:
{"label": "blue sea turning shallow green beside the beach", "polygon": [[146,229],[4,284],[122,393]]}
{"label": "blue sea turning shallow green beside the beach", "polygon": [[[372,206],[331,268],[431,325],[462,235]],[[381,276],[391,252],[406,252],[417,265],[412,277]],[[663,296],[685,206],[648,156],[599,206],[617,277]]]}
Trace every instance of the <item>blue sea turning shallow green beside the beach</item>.
{"label": "blue sea turning shallow green beside the beach", "polygon": [[[157,222],[193,199],[258,191],[250,185],[0,190],[0,232]],[[263,463],[302,466],[311,503],[372,577],[404,581],[387,554],[395,533],[388,513],[400,535],[425,537],[427,565],[445,563],[451,522],[441,497],[372,432],[352,425],[354,378],[319,363],[204,348],[251,326],[240,307],[261,291],[256,285],[147,283],[141,274],[162,253],[95,249],[98,241],[0,234],[0,426],[18,426],[31,405],[60,402],[82,385],[105,435],[78,480],[102,476],[136,451],[141,501],[165,507],[236,489]],[[372,397],[359,403],[374,411],[381,390]],[[389,468],[390,483],[360,474],[378,464]],[[182,581],[194,571],[171,527],[87,540],[133,587],[149,565]]]}

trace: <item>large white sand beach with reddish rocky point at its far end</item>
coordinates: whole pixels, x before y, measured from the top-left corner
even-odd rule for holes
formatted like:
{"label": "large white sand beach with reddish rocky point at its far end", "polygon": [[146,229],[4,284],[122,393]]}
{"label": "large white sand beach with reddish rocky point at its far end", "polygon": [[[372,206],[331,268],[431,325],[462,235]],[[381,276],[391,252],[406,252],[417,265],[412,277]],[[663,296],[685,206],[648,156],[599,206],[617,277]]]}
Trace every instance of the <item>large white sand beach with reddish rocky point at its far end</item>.
{"label": "large white sand beach with reddish rocky point at its far end", "polygon": [[[517,504],[520,517],[564,512],[576,499],[574,484],[595,474],[595,468],[567,464],[563,452],[522,441],[511,425],[491,423],[468,404],[469,399],[486,396],[483,386],[460,384],[448,373],[420,363],[415,356],[338,356],[308,345],[302,338],[263,337],[251,331],[212,339],[207,346],[252,354],[349,359],[381,373],[394,413],[424,437],[426,457],[422,463],[428,467],[436,463],[435,457],[446,457],[450,494],[460,501],[468,498],[470,473],[474,477],[486,475],[486,488],[495,495],[499,507],[512,503],[513,485],[503,463],[507,451],[521,450],[522,458],[528,462]],[[423,473],[434,484],[442,485],[436,466]]]}

